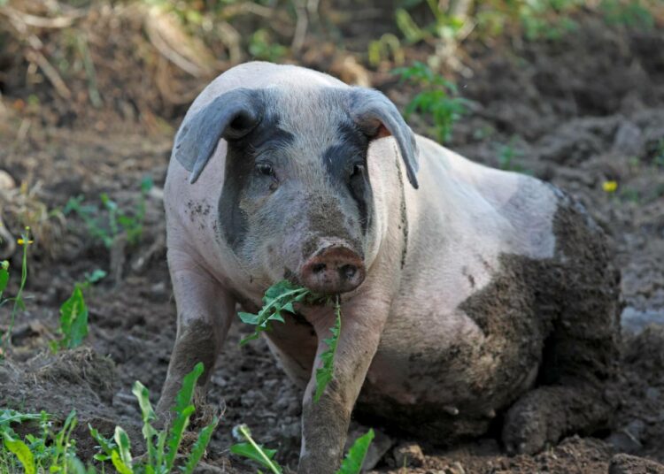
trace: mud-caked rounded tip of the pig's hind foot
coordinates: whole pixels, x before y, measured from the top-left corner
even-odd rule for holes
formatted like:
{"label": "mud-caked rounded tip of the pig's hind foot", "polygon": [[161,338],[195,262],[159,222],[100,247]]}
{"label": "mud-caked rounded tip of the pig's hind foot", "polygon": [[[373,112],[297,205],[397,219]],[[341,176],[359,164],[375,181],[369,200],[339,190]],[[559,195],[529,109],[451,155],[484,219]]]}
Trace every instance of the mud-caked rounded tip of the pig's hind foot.
{"label": "mud-caked rounded tip of the pig's hind foot", "polygon": [[550,431],[541,409],[521,400],[509,409],[503,425],[503,443],[510,455],[534,455],[544,449]]}

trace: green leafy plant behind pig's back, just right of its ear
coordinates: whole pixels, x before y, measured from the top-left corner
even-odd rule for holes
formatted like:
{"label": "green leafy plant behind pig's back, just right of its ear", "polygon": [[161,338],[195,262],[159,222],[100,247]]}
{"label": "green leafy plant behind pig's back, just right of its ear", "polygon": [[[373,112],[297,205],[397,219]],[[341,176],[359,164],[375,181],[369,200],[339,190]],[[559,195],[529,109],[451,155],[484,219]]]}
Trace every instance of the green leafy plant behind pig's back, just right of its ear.
{"label": "green leafy plant behind pig's back, just right of its ear", "polygon": [[467,113],[469,104],[467,99],[459,97],[456,85],[419,61],[410,67],[397,68],[392,73],[398,74],[402,82],[408,81],[423,89],[406,106],[405,119],[416,111],[428,115],[433,121],[438,139],[448,141],[454,123]]}

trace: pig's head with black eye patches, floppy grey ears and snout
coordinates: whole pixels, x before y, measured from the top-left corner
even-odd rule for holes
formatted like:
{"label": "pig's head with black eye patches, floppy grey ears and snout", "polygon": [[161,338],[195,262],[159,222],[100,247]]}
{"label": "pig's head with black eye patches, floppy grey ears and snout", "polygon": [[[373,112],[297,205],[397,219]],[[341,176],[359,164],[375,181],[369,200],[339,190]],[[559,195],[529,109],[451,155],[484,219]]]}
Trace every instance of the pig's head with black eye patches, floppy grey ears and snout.
{"label": "pig's head with black eye patches, floppy grey ears and snout", "polygon": [[[220,138],[226,140],[223,183],[210,190],[220,196],[224,247],[266,285],[286,278],[319,294],[340,294],[359,287],[371,264],[367,250],[382,238],[372,189],[380,176],[368,172],[367,150],[387,135],[417,187],[413,133],[381,93],[237,88],[182,125],[174,157],[193,183]],[[384,166],[394,169],[393,157]]]}

